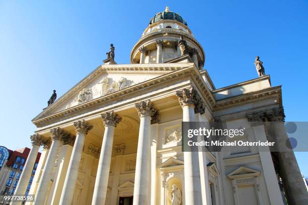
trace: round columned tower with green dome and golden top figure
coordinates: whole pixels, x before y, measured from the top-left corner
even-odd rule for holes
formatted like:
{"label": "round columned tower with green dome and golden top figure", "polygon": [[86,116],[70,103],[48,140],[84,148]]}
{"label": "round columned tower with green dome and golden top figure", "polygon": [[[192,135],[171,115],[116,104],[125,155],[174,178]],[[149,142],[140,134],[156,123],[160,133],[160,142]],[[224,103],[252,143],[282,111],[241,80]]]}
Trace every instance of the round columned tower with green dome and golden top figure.
{"label": "round columned tower with green dome and golden top figure", "polygon": [[130,53],[131,63],[165,63],[181,57],[178,42],[186,41],[187,54],[191,57],[199,70],[203,69],[204,51],[200,43],[194,38],[186,21],[177,13],[169,11],[151,18],[147,28]]}

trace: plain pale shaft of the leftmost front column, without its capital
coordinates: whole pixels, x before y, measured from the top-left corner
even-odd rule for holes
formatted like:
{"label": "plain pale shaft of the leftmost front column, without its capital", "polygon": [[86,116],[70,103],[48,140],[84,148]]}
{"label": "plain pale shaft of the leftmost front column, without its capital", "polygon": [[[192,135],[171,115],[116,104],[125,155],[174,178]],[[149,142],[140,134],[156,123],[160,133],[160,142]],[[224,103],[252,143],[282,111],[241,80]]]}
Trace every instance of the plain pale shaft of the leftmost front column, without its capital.
{"label": "plain pale shaft of the leftmost front column, without its capital", "polygon": [[[24,170],[17,184],[15,195],[25,194],[39,149],[40,149],[39,145],[32,145],[32,149],[27,158]],[[18,203],[13,203],[13,204],[18,204]],[[19,204],[21,204],[21,202],[19,202]]]}

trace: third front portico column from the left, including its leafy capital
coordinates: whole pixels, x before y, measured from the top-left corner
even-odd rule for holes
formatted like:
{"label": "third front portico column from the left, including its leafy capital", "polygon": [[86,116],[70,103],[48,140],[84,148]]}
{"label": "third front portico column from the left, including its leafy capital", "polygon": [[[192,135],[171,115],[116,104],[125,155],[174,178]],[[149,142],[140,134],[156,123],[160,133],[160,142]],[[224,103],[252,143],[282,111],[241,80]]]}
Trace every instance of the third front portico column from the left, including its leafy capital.
{"label": "third front portico column from the left, including its leafy capital", "polygon": [[93,128],[85,120],[74,122],[76,139],[69,160],[66,177],[59,204],[71,204],[78,176],[79,164],[83,152],[86,135]]}

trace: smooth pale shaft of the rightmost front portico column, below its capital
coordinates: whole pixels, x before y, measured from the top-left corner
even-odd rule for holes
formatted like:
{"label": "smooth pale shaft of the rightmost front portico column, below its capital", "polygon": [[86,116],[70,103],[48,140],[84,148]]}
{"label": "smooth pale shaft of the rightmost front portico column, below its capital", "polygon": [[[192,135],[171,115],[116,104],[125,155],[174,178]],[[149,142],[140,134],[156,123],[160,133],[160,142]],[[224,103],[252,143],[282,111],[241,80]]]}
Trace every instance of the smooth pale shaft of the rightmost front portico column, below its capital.
{"label": "smooth pale shaft of the rightmost front portico column, below its capital", "polygon": [[[189,104],[183,106],[183,122],[194,121],[194,106]],[[202,204],[198,152],[184,152],[184,181],[186,204]]]}

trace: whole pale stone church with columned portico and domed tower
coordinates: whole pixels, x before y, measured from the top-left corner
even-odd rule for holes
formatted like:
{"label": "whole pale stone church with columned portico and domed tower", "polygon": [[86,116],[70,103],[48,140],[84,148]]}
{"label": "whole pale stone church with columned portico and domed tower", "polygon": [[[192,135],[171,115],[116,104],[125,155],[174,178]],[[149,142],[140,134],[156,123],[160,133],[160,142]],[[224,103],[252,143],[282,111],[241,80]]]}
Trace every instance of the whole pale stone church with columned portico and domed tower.
{"label": "whole pale stone church with columned portico and domed tower", "polygon": [[[130,64],[116,63],[113,44],[103,62],[32,120],[20,181],[29,181],[43,150],[29,191],[35,201],[26,204],[308,204],[293,151],[182,150],[182,122],[245,127],[232,141],[287,140],[281,86],[271,85],[258,57],[259,77],[216,88],[202,46],[166,7],[150,19]],[[15,194],[26,189],[19,183]]]}

